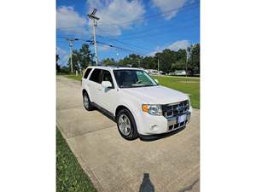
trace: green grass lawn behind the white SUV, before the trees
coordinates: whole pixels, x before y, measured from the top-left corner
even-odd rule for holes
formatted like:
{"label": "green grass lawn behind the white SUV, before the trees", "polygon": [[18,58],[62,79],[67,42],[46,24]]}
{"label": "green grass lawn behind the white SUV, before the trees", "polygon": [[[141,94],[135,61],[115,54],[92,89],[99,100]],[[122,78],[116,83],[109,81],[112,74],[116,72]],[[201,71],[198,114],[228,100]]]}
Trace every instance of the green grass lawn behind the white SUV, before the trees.
{"label": "green grass lawn behind the white SUV, before the trees", "polygon": [[[67,75],[67,78],[81,80],[81,75]],[[175,76],[153,76],[163,86],[189,94],[193,108],[200,108],[200,78],[189,78]]]}

